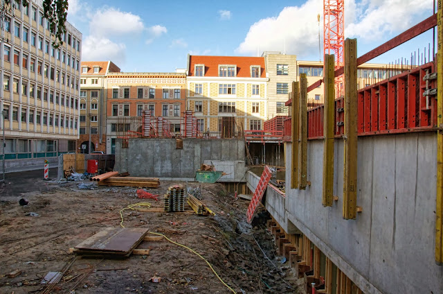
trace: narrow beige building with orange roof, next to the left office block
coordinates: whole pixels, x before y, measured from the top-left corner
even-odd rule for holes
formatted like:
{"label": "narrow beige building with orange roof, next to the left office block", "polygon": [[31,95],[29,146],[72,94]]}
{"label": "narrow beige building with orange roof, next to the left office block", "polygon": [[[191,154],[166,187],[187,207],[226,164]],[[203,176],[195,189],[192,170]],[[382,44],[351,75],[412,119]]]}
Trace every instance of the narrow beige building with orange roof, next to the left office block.
{"label": "narrow beige building with orange roof, next to the left office block", "polygon": [[81,71],[80,153],[89,153],[89,148],[106,153],[106,75],[120,68],[111,61],[83,61]]}

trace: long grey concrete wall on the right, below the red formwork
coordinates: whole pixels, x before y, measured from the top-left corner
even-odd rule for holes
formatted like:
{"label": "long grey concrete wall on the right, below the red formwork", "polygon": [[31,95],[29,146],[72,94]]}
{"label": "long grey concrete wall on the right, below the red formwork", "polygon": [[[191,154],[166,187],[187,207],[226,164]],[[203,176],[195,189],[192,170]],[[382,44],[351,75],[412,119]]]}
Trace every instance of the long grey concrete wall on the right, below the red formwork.
{"label": "long grey concrete wall on the right, below the red formwork", "polygon": [[[332,207],[321,204],[323,141],[308,141],[305,191],[290,189],[266,208],[287,232],[295,225],[343,273],[368,293],[443,293],[443,266],[435,252],[437,139],[433,133],[359,137],[357,205],[363,212],[344,220],[343,140],[335,141]],[[291,144],[287,145],[291,150]],[[249,180],[249,178],[248,178]],[[251,180],[255,187],[255,181]],[[268,188],[269,189],[269,188]]]}

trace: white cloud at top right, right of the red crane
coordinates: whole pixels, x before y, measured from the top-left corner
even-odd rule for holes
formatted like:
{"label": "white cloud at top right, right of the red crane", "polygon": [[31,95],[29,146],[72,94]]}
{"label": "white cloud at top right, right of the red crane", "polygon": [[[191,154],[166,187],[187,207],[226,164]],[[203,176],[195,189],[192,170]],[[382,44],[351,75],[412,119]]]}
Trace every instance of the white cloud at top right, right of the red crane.
{"label": "white cloud at top right, right of the red crane", "polygon": [[413,26],[432,6],[433,0],[363,0],[356,10],[356,21],[345,27],[345,35],[363,41],[385,40],[383,36]]}

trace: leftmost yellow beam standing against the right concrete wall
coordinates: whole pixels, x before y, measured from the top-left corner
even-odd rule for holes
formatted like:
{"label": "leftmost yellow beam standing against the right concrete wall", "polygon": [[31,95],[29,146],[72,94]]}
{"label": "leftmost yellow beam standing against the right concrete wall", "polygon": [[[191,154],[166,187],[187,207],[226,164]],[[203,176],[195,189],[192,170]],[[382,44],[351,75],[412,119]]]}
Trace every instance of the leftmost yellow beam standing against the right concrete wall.
{"label": "leftmost yellow beam standing against the right concrete wall", "polygon": [[292,158],[291,189],[298,189],[298,82],[292,82]]}

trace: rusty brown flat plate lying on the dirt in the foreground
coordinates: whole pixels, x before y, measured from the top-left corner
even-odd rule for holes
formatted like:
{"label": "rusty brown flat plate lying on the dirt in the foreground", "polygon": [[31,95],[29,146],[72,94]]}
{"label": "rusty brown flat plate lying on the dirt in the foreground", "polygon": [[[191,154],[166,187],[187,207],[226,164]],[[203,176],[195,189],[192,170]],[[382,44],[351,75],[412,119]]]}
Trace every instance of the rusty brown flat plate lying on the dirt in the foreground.
{"label": "rusty brown flat plate lying on the dirt in the foreground", "polygon": [[74,252],[127,255],[143,241],[147,231],[143,228],[107,227],[75,246]]}

